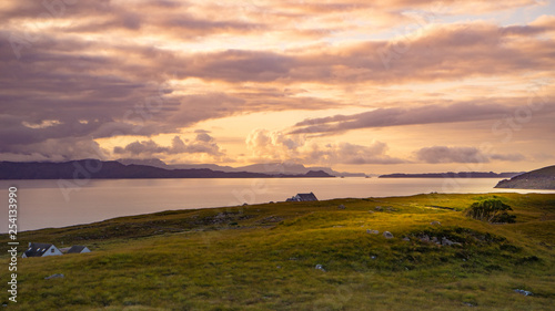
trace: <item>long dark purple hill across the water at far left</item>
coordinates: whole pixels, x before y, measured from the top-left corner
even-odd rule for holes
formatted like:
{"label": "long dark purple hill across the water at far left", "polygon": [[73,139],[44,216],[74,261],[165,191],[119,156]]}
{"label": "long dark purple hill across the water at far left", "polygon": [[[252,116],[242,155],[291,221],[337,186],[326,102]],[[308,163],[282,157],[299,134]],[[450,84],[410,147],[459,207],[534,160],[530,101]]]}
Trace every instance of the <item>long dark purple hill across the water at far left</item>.
{"label": "long dark purple hill across the water at far left", "polygon": [[164,169],[147,165],[124,165],[115,160],[81,159],[63,163],[0,162],[0,179],[110,179],[110,178],[272,178],[334,177],[322,170],[306,174],[260,174],[219,172],[209,168]]}

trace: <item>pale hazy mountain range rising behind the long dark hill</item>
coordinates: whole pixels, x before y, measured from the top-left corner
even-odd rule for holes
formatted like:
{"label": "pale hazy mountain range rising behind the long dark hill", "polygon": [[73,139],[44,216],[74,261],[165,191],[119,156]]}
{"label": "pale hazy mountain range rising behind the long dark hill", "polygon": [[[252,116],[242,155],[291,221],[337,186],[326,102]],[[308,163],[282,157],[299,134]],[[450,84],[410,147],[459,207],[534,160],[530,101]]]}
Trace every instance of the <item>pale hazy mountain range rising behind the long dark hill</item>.
{"label": "pale hazy mountain range rising behind the long dark hill", "polygon": [[264,164],[253,164],[248,166],[240,167],[231,167],[231,166],[220,166],[215,164],[165,164],[164,162],[158,158],[149,158],[149,159],[133,159],[133,158],[121,158],[118,159],[119,163],[130,165],[148,165],[154,166],[165,169],[191,169],[191,168],[209,168],[212,170],[220,172],[249,172],[249,173],[261,173],[261,174],[270,174],[270,175],[304,175],[309,172],[317,172],[322,170],[332,176],[337,177],[366,177],[364,173],[346,173],[346,172],[336,172],[330,167],[305,167],[302,164],[296,163],[264,163]]}

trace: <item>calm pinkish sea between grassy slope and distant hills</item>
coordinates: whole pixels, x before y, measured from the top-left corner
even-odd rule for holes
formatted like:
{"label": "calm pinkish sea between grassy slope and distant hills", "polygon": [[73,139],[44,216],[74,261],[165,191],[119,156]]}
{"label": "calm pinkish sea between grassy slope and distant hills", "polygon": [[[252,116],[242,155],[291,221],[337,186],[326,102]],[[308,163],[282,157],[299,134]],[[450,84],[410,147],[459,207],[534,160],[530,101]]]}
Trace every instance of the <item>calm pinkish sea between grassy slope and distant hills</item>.
{"label": "calm pinkish sea between grassy slope and distant hills", "polygon": [[4,201],[0,211],[0,232],[8,231],[10,187],[16,187],[11,190],[17,189],[19,231],[90,224],[163,210],[278,203],[297,193],[313,193],[320,200],[430,193],[555,193],[495,189],[498,180],[363,177],[0,180],[0,198]]}

